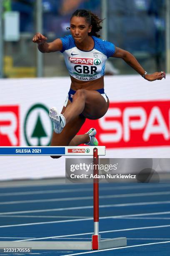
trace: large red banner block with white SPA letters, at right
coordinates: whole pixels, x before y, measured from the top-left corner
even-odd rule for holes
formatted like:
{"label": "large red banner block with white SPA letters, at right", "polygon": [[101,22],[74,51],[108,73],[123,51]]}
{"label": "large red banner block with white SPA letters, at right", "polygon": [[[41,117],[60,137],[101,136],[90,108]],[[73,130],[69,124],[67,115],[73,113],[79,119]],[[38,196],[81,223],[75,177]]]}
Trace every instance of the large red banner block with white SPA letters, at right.
{"label": "large red banner block with white SPA letters, at right", "polygon": [[107,148],[170,146],[170,101],[110,102],[105,116],[86,119],[78,134],[90,127]]}

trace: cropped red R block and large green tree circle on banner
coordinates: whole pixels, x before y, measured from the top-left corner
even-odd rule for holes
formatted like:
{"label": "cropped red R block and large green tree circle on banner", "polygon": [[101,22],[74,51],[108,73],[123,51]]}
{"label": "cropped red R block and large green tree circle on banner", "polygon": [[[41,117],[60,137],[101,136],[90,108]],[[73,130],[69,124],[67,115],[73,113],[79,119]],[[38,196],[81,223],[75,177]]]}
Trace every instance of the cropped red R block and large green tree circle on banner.
{"label": "cropped red R block and large green tree circle on banner", "polygon": [[0,106],[0,146],[49,146],[53,123],[48,108],[35,104]]}

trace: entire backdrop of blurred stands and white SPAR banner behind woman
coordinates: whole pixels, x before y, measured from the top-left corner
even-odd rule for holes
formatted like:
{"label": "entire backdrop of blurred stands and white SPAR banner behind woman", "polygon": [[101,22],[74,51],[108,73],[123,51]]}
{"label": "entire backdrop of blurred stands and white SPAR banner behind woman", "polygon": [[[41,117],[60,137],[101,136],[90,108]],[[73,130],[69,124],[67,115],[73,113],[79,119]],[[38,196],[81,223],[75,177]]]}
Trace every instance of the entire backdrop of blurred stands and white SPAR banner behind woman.
{"label": "entire backdrop of blurred stands and white SPAR banner behind woman", "polygon": [[[100,120],[87,120],[80,133],[95,127],[106,157],[169,158],[169,0],[1,0],[0,146],[49,145],[48,110],[61,110],[70,78],[62,54],[41,54],[32,36],[40,31],[52,41],[68,34],[77,8],[106,18],[101,38],[130,51],[148,73],[167,72],[165,80],[150,83],[121,59],[110,58],[105,76],[110,108]],[[65,175],[64,157],[1,156],[0,166],[0,180]]]}

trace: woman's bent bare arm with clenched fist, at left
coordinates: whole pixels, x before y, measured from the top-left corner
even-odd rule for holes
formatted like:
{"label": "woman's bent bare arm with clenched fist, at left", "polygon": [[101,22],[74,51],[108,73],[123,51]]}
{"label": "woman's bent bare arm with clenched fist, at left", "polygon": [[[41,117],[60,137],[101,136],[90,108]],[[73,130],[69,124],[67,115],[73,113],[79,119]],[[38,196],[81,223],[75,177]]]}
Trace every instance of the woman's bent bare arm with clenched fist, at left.
{"label": "woman's bent bare arm with clenched fist, at left", "polygon": [[32,38],[32,42],[38,45],[38,49],[42,53],[62,50],[62,41],[60,40],[60,38],[55,39],[51,43],[47,43],[46,41],[47,37],[43,36],[40,33],[36,33],[35,36],[33,36]]}

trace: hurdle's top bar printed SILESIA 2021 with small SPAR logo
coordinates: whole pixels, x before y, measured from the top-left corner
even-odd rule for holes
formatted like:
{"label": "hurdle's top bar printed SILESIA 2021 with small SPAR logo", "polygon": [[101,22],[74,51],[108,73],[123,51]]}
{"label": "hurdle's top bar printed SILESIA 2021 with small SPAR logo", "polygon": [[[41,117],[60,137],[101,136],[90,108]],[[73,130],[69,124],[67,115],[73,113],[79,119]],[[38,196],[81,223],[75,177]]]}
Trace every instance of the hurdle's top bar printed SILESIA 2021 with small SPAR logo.
{"label": "hurdle's top bar printed SILESIA 2021 with small SPAR logo", "polygon": [[0,156],[105,156],[105,146],[0,146]]}

